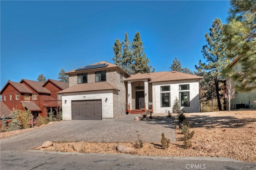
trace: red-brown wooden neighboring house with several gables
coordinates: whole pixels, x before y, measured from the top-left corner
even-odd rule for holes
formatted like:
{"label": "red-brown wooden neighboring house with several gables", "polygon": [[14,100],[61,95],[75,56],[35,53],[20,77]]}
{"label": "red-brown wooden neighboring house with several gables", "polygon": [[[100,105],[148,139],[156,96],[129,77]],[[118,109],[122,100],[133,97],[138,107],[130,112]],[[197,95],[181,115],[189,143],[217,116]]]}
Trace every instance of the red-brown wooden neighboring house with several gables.
{"label": "red-brown wooden neighboring house with several gables", "polygon": [[10,109],[20,109],[22,104],[30,110],[34,116],[35,122],[37,117],[48,116],[50,108],[54,114],[58,115],[58,107],[61,106],[61,96],[57,95],[58,91],[68,88],[68,83],[48,79],[45,83],[22,79],[19,83],[8,81],[1,90],[2,102]]}

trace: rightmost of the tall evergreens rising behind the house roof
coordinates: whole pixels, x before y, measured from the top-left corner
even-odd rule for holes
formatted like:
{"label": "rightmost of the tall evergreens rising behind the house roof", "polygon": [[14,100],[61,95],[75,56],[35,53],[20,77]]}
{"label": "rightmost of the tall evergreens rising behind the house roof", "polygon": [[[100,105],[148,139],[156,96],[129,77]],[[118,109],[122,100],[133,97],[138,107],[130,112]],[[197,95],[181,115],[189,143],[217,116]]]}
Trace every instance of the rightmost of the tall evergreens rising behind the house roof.
{"label": "rightmost of the tall evergreens rising behind the house roof", "polygon": [[[144,47],[140,38],[140,33],[136,32],[132,42],[132,64],[131,73],[150,73],[151,65],[148,65],[149,60],[143,52]],[[154,71],[154,69],[153,69]]]}

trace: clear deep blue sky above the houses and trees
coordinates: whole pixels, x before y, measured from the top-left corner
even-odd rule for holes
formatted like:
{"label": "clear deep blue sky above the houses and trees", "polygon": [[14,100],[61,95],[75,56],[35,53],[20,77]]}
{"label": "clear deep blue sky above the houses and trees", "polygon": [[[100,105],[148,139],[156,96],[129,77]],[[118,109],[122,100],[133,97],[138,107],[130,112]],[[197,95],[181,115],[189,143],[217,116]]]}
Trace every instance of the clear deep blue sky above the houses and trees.
{"label": "clear deep blue sky above the houses and trees", "polygon": [[226,23],[229,1],[0,1],[0,86],[8,79],[58,79],[98,61],[112,60],[116,38],[140,36],[155,71],[174,57],[195,71],[212,21]]}

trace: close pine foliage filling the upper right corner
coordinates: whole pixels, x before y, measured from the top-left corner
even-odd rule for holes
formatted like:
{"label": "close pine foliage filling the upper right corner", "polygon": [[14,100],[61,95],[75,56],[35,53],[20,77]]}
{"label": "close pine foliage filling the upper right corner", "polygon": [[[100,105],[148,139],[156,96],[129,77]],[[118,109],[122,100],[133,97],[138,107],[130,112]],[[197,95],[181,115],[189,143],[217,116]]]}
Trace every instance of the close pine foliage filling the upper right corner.
{"label": "close pine foliage filling the upper right corner", "polygon": [[256,0],[232,0],[230,4],[225,41],[227,49],[240,56],[242,65],[232,78],[238,91],[249,92],[256,89]]}

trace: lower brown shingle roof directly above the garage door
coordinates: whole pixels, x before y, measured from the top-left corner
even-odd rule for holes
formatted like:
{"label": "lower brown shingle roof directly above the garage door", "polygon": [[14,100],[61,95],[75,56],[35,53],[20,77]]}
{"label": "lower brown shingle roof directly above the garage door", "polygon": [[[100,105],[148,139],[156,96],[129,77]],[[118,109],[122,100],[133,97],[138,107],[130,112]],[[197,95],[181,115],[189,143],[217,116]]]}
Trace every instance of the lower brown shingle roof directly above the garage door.
{"label": "lower brown shingle roof directly above the garage door", "polygon": [[98,90],[118,90],[118,89],[108,82],[97,82],[97,83],[83,83],[83,84],[74,85],[62,91],[59,91],[58,93],[72,93],[72,92],[98,91]]}

